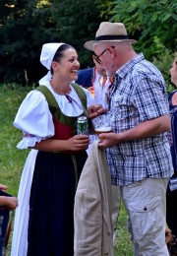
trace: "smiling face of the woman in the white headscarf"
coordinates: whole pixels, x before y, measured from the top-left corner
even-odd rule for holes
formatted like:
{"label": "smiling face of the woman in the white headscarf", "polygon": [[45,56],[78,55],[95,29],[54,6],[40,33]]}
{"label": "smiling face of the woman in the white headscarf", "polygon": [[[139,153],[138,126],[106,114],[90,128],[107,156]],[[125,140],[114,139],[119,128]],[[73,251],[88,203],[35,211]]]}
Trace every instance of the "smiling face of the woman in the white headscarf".
{"label": "smiling face of the woman in the white headscarf", "polygon": [[55,62],[53,77],[58,76],[60,80],[71,83],[78,79],[78,70],[80,68],[78,54],[75,49],[69,48],[63,52],[63,55],[60,63]]}

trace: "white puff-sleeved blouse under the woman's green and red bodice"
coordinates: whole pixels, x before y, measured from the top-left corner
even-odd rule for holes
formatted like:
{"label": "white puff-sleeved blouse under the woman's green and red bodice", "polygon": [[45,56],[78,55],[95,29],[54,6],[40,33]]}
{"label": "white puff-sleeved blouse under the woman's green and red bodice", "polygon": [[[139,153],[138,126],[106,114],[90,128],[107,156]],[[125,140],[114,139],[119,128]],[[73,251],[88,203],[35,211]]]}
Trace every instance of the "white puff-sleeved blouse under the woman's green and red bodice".
{"label": "white puff-sleeved blouse under the woman's green and red bodice", "polygon": [[[61,111],[67,116],[79,116],[83,113],[82,102],[73,87],[69,96],[71,102],[66,96],[57,95],[49,82],[44,84],[55,97]],[[82,88],[83,89],[83,88]],[[83,89],[87,95],[87,106],[94,104],[94,98]],[[37,90],[29,92],[23,100],[14,120],[14,126],[24,133],[23,140],[17,145],[18,149],[28,149],[33,147],[36,142],[51,138],[54,136],[54,125],[52,114],[49,110],[45,96]]]}

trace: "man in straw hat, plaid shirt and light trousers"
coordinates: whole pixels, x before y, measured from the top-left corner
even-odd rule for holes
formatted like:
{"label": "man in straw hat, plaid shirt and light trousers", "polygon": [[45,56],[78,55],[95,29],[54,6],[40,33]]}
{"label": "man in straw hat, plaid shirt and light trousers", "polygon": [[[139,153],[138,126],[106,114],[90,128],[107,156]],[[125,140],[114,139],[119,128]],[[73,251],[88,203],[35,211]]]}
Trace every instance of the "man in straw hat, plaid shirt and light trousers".
{"label": "man in straw hat, plaid shirt and light trousers", "polygon": [[129,215],[135,255],[167,256],[165,193],[173,173],[166,131],[170,129],[164,80],[143,53],[137,54],[122,23],[100,24],[85,47],[114,83],[109,117],[114,132],[101,134],[112,184],[120,187]]}

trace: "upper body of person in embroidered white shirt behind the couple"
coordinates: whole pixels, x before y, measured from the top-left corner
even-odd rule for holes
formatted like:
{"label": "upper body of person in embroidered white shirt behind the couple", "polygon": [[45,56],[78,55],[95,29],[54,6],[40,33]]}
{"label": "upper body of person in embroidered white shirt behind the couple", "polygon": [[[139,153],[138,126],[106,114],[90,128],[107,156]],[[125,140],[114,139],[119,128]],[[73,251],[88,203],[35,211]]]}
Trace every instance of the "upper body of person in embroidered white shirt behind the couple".
{"label": "upper body of person in embroidered white shirt behind the couple", "polygon": [[92,60],[94,67],[80,70],[76,83],[89,90],[89,93],[94,96],[96,104],[107,107],[107,93],[111,87],[112,79],[107,77],[106,70],[96,60],[94,53],[92,53]]}

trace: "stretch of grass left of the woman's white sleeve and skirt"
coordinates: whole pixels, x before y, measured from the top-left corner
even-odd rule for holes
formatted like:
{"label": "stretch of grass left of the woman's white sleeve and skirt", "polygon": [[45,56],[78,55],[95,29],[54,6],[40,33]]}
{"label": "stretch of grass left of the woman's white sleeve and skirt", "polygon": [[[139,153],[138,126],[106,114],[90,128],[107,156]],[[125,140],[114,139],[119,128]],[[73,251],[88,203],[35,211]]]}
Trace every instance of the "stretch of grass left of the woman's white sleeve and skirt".
{"label": "stretch of grass left of the woman's white sleeve and skirt", "polygon": [[29,88],[9,89],[0,86],[0,182],[7,184],[8,192],[16,196],[28,150],[16,148],[22,139],[22,132],[13,126],[13,121],[28,92]]}

